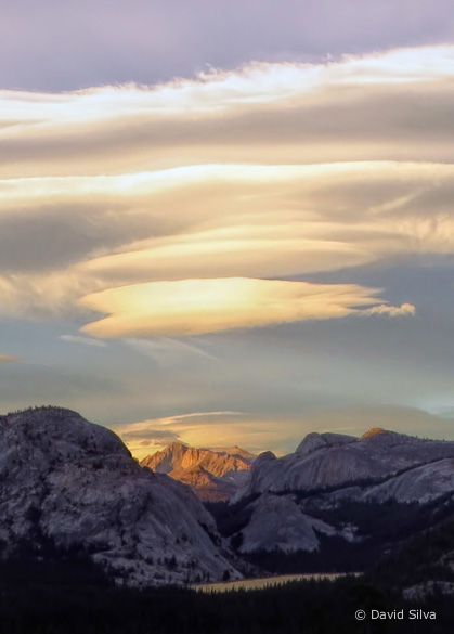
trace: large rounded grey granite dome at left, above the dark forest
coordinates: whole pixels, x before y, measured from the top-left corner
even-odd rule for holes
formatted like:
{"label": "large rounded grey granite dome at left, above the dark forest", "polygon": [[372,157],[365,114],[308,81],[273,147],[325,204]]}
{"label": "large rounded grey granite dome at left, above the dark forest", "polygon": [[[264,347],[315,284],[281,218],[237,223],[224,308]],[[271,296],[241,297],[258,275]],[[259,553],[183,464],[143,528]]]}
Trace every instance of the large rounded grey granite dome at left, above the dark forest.
{"label": "large rounded grey granite dome at left, above the dark forest", "polygon": [[0,540],[79,546],[130,585],[241,574],[192,491],[144,469],[111,430],[46,407],[0,417]]}

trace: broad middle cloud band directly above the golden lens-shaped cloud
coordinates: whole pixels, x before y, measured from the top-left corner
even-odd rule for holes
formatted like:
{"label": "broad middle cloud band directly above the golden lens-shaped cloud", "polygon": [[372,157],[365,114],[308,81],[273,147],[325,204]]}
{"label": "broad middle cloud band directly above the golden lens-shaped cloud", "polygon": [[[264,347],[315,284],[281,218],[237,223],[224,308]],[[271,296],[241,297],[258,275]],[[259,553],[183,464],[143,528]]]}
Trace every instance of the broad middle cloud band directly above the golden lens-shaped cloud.
{"label": "broad middle cloud band directly above the golden lens-shaped cloud", "polygon": [[[51,196],[51,181],[42,184],[40,194],[35,190],[29,193],[37,204],[36,222],[42,209],[38,198]],[[102,186],[96,183],[93,177],[81,186],[76,179],[66,183],[65,196],[77,197],[79,187],[85,187],[89,215],[92,193],[100,187],[100,196],[104,192],[108,198],[116,178],[102,179]],[[451,165],[205,166],[128,177],[125,183],[129,185],[125,184],[121,195],[128,199],[129,210],[119,207],[99,219],[98,242],[105,240],[101,257],[86,259],[93,255],[87,246],[79,262],[62,268],[60,256],[53,258],[54,251],[48,247],[55,240],[51,227],[44,223],[48,231],[37,234],[36,240],[46,238],[38,250],[48,253],[50,269],[40,274],[35,270],[42,266],[41,256],[35,266],[30,244],[22,243],[21,223],[15,237],[8,234],[8,241],[15,240],[17,253],[27,254],[27,267],[34,271],[25,271],[25,260],[20,263],[18,256],[10,261],[9,273],[8,267],[3,269],[2,314],[67,314],[78,311],[77,299],[83,295],[152,280],[285,277],[412,257],[415,253],[454,250]],[[9,185],[10,209],[26,187],[24,183]],[[23,222],[28,222],[28,216]],[[126,243],[120,247],[114,248],[111,242],[112,223],[116,223],[118,233],[125,228]],[[148,237],[130,242],[131,225],[133,236],[142,232]],[[70,224],[67,229],[70,241]],[[0,234],[0,246],[2,240]]]}

